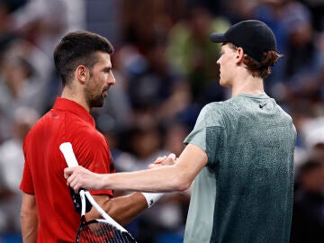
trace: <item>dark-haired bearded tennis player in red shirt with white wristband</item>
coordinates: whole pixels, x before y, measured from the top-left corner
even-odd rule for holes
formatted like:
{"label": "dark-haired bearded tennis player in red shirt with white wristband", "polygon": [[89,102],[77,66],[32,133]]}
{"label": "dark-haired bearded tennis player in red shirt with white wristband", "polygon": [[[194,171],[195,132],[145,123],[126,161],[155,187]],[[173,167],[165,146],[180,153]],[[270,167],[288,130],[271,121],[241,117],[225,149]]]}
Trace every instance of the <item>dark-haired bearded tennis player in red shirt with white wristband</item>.
{"label": "dark-haired bearded tennis player in red shirt with white wristband", "polygon": [[[112,44],[89,31],[68,33],[54,51],[63,91],[53,108],[31,129],[23,144],[25,157],[22,203],[23,242],[74,242],[80,215],[74,210],[63,170],[67,167],[59,145],[72,143],[81,166],[96,173],[113,173],[112,156],[90,115],[103,106],[111,85]],[[111,190],[91,192],[112,218],[128,223],[156,201],[159,194],[131,193],[112,197]],[[150,205],[149,205],[150,206]],[[94,209],[86,220],[100,218]]]}

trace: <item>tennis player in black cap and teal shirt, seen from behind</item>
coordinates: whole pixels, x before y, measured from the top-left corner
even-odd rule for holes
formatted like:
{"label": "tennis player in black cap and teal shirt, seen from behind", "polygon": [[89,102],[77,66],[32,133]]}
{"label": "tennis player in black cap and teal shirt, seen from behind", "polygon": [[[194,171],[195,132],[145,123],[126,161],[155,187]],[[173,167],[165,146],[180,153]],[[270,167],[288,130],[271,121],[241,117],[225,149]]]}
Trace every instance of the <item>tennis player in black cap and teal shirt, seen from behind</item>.
{"label": "tennis player in black cap and teal shirt, seen from behind", "polygon": [[211,41],[222,43],[220,85],[231,88],[231,97],[202,108],[179,157],[114,175],[67,168],[67,184],[76,191],[147,192],[182,191],[193,184],[185,243],[288,243],[296,130],[264,89],[281,57],[275,35],[266,23],[248,20],[212,33]]}

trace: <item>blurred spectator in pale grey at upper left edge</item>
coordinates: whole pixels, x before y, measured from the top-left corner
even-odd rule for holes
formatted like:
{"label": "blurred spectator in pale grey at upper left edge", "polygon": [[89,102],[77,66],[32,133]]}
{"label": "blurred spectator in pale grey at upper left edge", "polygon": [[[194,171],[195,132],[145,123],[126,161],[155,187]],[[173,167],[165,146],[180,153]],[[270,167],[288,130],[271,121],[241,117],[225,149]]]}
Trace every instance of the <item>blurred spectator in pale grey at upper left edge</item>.
{"label": "blurred spectator in pale grey at upper left edge", "polygon": [[[32,49],[32,51],[31,51]],[[26,40],[11,41],[0,65],[0,138],[11,137],[14,111],[29,106],[42,113],[49,77],[50,59]],[[45,72],[44,72],[45,71]]]}

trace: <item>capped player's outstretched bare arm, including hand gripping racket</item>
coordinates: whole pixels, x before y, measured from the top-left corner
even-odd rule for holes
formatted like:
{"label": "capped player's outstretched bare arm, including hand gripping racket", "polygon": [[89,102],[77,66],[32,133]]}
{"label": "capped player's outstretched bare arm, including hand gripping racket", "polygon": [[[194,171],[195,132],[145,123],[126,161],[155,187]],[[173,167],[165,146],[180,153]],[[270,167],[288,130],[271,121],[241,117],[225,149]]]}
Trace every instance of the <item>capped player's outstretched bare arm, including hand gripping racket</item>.
{"label": "capped player's outstretched bare arm, including hand gripping racket", "polygon": [[194,145],[188,145],[177,163],[172,166],[157,166],[150,170],[115,174],[96,174],[82,166],[67,167],[64,175],[67,184],[77,192],[80,188],[99,190],[103,188],[140,191],[175,192],[186,190],[194,177],[206,166],[206,153]]}

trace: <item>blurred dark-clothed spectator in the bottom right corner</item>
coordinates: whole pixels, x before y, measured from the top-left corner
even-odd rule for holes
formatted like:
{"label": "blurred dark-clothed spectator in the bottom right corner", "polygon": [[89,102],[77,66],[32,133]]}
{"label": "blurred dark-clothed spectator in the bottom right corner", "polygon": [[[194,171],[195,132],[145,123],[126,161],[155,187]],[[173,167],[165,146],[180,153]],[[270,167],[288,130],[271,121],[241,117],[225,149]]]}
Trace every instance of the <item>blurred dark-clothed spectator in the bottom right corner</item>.
{"label": "blurred dark-clothed spectator in the bottom right corner", "polygon": [[320,160],[310,158],[301,167],[294,193],[291,243],[324,242],[323,189],[323,157]]}

